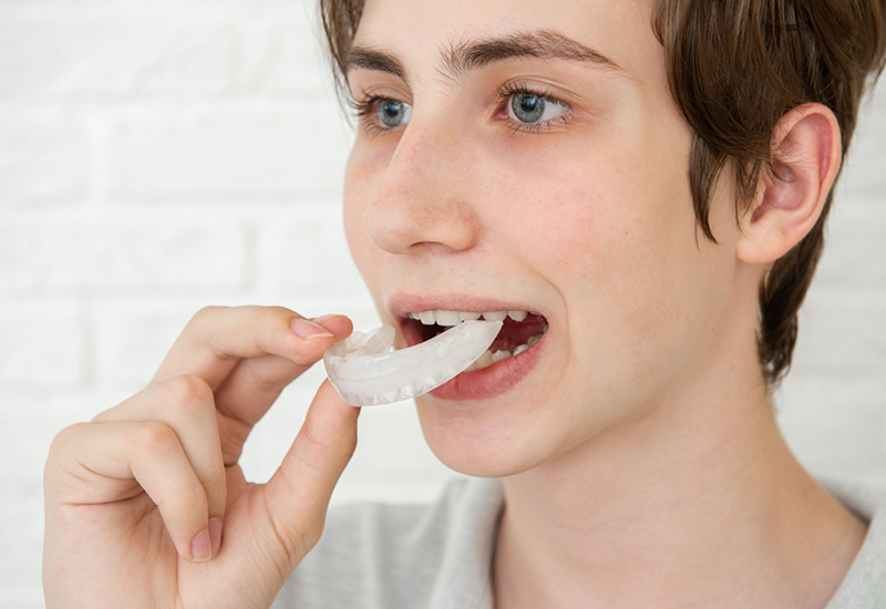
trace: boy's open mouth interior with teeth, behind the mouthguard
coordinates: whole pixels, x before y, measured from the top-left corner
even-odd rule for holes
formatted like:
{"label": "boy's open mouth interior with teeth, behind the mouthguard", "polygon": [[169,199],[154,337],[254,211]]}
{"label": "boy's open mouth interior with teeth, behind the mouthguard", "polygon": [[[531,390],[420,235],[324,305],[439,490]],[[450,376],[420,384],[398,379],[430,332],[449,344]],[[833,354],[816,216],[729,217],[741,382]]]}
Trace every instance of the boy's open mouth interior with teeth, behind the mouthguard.
{"label": "boy's open mouth interior with teeth, behind the mouthguard", "polygon": [[548,328],[544,316],[529,311],[427,310],[410,312],[402,320],[401,326],[406,344],[413,347],[445,332],[453,326],[476,319],[502,321],[503,326],[492,345],[465,372],[482,370],[495,362],[524,353],[542,338]]}

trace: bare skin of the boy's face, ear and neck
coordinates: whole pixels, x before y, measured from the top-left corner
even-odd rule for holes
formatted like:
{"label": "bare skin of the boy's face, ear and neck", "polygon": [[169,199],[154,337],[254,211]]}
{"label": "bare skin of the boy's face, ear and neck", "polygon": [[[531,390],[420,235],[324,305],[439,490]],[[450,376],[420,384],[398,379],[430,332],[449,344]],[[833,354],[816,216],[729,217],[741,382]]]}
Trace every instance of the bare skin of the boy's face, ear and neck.
{"label": "bare skin of the boy's face, ear and neck", "polygon": [[[505,301],[550,323],[509,391],[418,400],[444,463],[505,477],[499,609],[824,607],[864,526],[777,431],[756,292],[817,218],[838,131],[822,106],[786,115],[774,133],[784,179],[764,179],[736,224],[727,172],[712,208],[719,242],[699,237],[691,132],[649,14],[647,2],[368,2],[356,47],[398,59],[404,74],[356,65],[351,93],[412,115],[396,128],[380,131],[378,115],[361,123],[349,242],[385,321],[391,303],[419,295],[425,308]],[[535,58],[441,69],[454,44],[533,30],[619,69]],[[495,96],[506,82],[567,102],[568,121],[516,131]]]}

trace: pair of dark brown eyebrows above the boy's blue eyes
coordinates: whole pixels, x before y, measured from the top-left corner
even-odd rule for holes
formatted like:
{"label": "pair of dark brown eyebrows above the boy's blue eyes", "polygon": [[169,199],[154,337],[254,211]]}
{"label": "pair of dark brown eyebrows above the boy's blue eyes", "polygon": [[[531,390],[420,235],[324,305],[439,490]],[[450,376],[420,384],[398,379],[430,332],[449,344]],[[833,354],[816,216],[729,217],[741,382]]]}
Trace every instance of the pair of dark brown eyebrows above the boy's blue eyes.
{"label": "pair of dark brown eyebrows above the boy's blue eyes", "polygon": [[[624,72],[618,63],[599,51],[560,33],[539,30],[452,45],[442,53],[443,73],[459,78],[492,63],[521,58],[588,62]],[[406,81],[403,63],[384,51],[352,45],[344,55],[342,69],[348,74],[356,68],[387,72]]]}

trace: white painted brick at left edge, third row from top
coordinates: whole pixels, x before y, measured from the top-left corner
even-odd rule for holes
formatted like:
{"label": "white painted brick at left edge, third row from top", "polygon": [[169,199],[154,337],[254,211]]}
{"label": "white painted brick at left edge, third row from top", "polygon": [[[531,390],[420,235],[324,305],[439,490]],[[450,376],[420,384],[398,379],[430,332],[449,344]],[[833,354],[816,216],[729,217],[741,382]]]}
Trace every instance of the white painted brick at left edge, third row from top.
{"label": "white painted brick at left edge, third row from top", "polygon": [[0,293],[182,293],[243,288],[248,226],[166,218],[10,218],[0,225]]}

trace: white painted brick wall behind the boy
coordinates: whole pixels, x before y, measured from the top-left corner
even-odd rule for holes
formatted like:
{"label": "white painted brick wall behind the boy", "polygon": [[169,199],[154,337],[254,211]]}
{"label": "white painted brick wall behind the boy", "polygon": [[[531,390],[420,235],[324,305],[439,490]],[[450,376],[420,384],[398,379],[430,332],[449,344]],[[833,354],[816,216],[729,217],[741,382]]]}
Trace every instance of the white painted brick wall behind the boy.
{"label": "white painted brick wall behind the boy", "polygon": [[[339,220],[350,127],[310,0],[0,0],[0,607],[42,606],[62,427],[138,391],[190,316],[377,319]],[[886,85],[880,87],[886,90]],[[886,487],[886,91],[865,105],[776,396],[816,474]],[[322,371],[250,436],[267,479]],[[408,403],[368,409],[334,502],[433,497]]]}

